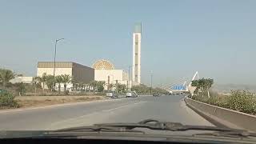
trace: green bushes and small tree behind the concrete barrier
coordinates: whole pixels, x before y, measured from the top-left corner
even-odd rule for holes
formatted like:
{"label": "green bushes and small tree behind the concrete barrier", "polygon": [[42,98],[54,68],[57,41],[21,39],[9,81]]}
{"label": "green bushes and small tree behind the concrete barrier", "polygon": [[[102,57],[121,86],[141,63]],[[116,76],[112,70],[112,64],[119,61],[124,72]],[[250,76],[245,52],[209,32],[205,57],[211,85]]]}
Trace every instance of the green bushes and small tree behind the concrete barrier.
{"label": "green bushes and small tree behind the concrete barrier", "polygon": [[205,78],[193,81],[192,86],[197,86],[197,89],[190,98],[210,105],[256,115],[256,97],[254,94],[247,90],[231,90],[230,95],[220,95],[209,90],[213,82],[212,79]]}

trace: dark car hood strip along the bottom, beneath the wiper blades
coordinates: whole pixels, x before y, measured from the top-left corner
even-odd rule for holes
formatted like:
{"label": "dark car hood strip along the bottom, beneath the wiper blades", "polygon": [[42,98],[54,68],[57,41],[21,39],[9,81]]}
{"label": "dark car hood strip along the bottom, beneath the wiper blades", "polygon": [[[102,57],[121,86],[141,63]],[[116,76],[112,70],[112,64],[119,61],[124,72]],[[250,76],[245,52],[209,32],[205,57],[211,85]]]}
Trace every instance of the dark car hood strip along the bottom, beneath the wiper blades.
{"label": "dark car hood strip along the bottom, beneath the wiper blades", "polygon": [[0,131],[2,138],[81,138],[107,140],[135,140],[156,142],[196,142],[196,143],[256,143],[255,138],[227,138],[206,135],[166,135],[166,134],[131,134],[131,133],[55,133],[45,130]]}

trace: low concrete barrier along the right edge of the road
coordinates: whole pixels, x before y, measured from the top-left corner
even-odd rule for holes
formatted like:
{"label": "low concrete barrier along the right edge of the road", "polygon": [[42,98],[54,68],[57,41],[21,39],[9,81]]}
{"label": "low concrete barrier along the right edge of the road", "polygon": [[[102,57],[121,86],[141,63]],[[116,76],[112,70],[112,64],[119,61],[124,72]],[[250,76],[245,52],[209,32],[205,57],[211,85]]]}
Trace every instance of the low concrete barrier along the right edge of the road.
{"label": "low concrete barrier along the right edge of the road", "polygon": [[187,106],[216,126],[256,132],[256,116],[185,98]]}

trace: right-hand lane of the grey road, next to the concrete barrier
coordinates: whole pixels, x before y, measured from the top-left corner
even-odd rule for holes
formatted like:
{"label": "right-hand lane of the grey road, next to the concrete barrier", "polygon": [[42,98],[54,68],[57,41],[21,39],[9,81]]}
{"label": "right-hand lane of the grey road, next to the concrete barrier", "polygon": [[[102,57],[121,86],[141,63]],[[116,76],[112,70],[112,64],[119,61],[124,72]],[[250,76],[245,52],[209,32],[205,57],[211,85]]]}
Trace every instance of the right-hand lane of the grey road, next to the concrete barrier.
{"label": "right-hand lane of the grey road, next to the concrete barrier", "polygon": [[52,124],[49,129],[74,126],[90,126],[106,122],[140,122],[153,118],[165,122],[182,122],[188,125],[213,126],[210,122],[190,110],[183,101],[183,96],[138,97],[127,106],[102,110],[79,118],[72,118]]}

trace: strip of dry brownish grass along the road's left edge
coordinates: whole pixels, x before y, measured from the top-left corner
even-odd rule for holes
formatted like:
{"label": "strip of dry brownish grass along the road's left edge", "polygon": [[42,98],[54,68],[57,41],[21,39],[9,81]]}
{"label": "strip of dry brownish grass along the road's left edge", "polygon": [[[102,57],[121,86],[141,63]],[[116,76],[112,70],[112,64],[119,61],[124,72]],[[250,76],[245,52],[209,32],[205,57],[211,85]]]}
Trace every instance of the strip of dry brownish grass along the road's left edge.
{"label": "strip of dry brownish grass along the road's left edge", "polygon": [[105,99],[102,96],[21,96],[16,97],[20,107],[50,106],[70,102],[91,102]]}

